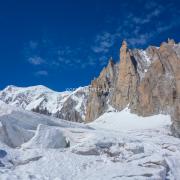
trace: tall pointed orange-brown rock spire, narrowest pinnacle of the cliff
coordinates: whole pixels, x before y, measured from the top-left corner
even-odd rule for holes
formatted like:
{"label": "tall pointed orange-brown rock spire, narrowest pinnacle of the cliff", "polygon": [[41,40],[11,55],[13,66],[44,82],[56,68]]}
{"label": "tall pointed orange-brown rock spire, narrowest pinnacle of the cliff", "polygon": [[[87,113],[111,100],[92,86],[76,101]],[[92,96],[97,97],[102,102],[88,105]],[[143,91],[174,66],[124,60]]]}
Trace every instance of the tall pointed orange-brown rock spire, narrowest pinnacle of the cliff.
{"label": "tall pointed orange-brown rock spire, narrowest pinnacle of the cliff", "polygon": [[120,49],[120,59],[111,101],[112,105],[118,110],[122,110],[133,100],[138,82],[137,62],[131,51],[128,50],[125,41],[123,41]]}

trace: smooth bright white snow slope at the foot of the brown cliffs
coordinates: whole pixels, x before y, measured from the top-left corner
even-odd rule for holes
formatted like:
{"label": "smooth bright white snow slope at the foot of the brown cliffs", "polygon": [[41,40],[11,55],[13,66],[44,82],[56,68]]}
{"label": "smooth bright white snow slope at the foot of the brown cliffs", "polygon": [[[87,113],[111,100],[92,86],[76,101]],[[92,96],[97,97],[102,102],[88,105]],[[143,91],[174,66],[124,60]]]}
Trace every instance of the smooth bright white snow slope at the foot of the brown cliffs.
{"label": "smooth bright white snow slope at the foot of the brown cliffs", "polygon": [[130,113],[128,108],[121,112],[104,113],[94,122],[90,123],[93,127],[111,130],[133,130],[133,129],[154,129],[164,125],[171,124],[169,115],[153,115],[149,117],[140,117]]}

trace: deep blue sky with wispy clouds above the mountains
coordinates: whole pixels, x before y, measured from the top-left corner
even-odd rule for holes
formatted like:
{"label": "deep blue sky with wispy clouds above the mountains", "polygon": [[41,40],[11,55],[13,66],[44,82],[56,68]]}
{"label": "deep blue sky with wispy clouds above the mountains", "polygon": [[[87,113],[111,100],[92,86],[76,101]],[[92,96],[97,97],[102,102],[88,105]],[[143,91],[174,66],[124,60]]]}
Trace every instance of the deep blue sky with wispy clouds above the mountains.
{"label": "deep blue sky with wispy clouds above the mountains", "polygon": [[6,0],[0,3],[0,89],[88,85],[121,41],[180,41],[179,0]]}

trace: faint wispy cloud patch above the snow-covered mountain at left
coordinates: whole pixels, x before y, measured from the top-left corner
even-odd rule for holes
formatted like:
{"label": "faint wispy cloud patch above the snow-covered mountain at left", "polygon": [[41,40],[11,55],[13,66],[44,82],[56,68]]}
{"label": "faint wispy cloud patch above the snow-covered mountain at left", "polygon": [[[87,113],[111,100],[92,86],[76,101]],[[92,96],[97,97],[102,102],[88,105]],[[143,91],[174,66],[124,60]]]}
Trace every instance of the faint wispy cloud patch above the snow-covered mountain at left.
{"label": "faint wispy cloud patch above the snow-covered mountain at left", "polygon": [[25,58],[28,63],[37,67],[66,68],[80,67],[81,63],[93,65],[92,60],[82,61],[82,47],[72,48],[70,46],[57,46],[52,41],[42,39],[41,41],[29,41],[25,46]]}

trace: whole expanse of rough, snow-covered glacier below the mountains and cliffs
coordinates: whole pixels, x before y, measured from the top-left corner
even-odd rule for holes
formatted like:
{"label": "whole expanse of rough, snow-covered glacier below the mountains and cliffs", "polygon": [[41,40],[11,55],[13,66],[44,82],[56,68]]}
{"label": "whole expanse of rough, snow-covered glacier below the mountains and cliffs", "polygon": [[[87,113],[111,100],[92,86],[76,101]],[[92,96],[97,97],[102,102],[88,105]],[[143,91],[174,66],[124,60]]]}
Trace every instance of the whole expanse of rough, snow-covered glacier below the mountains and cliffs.
{"label": "whole expanse of rough, snow-covered glacier below the mountains and cliffs", "polygon": [[1,102],[0,121],[1,180],[180,177],[180,139],[171,136],[169,116],[142,118],[125,109],[84,125]]}

